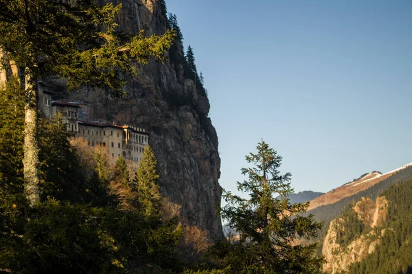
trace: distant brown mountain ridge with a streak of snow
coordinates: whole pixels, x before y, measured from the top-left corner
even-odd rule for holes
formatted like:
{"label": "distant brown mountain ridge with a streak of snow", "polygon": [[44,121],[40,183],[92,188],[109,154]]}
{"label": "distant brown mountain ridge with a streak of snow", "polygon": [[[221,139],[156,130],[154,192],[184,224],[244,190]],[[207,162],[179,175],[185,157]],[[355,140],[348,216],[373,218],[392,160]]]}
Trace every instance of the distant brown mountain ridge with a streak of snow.
{"label": "distant brown mountain ridge with a streak of snow", "polygon": [[371,173],[368,173],[365,176],[361,176],[360,179],[357,179],[354,182],[350,182],[349,184],[344,184],[343,186],[340,186],[339,188],[334,188],[333,190],[330,190],[324,195],[321,195],[320,197],[313,199],[312,201],[310,201],[310,206],[308,210],[313,210],[314,208],[318,208],[319,206],[325,206],[325,205],[329,205],[332,203],[336,203],[337,201],[345,197],[350,197],[352,195],[355,195],[356,193],[366,190],[367,188],[370,188],[371,186],[374,186],[375,184],[378,184],[379,182],[382,182],[383,180],[387,179],[391,175],[397,173],[398,171],[402,169],[406,169],[408,166],[411,166],[411,165],[412,163],[406,164],[404,166],[401,166],[398,169],[389,171],[388,173],[385,173],[385,174],[381,174],[377,171],[373,171]]}

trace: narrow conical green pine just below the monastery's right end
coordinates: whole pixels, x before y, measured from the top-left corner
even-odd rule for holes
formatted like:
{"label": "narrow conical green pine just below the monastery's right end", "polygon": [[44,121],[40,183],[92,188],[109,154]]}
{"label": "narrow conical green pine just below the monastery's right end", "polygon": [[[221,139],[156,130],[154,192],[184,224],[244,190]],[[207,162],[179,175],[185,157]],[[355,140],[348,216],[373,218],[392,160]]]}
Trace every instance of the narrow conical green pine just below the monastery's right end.
{"label": "narrow conical green pine just below the monastery's right end", "polygon": [[154,216],[160,212],[161,195],[157,184],[159,175],[156,171],[156,165],[155,153],[148,145],[144,149],[143,157],[133,180],[139,207],[146,216]]}

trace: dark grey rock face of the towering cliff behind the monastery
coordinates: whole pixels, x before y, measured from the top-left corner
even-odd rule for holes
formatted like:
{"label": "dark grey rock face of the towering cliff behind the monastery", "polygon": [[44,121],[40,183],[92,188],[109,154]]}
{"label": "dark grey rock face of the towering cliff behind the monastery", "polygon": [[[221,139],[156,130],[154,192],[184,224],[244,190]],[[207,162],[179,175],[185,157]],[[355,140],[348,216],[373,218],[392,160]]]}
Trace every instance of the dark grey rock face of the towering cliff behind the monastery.
{"label": "dark grey rock face of the towering cliff behind the monastery", "polygon": [[[113,3],[123,5],[118,21],[124,32],[165,32],[167,18],[160,0]],[[183,58],[180,46],[172,50],[175,59]],[[58,82],[49,83],[49,89],[59,88],[63,86]],[[140,67],[139,77],[130,77],[126,92],[117,101],[104,90],[61,96],[83,101],[82,111],[90,120],[136,125],[150,132],[149,145],[157,157],[162,194],[181,205],[183,223],[206,231],[210,238],[222,238],[221,221],[216,215],[221,195],[218,137],[208,118],[205,92],[185,75],[181,63],[171,60]]]}

